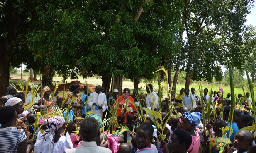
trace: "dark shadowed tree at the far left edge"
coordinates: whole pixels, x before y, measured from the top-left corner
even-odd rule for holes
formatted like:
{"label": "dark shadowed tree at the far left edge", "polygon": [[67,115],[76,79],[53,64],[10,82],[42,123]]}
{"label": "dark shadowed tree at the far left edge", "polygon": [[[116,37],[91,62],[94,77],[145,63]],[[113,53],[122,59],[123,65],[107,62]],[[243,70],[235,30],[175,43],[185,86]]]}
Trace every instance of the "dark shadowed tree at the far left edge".
{"label": "dark shadowed tree at the far left edge", "polygon": [[33,0],[0,0],[0,96],[9,86],[10,63],[16,66],[15,59],[24,54],[22,47],[26,45],[27,30],[32,28],[36,5]]}

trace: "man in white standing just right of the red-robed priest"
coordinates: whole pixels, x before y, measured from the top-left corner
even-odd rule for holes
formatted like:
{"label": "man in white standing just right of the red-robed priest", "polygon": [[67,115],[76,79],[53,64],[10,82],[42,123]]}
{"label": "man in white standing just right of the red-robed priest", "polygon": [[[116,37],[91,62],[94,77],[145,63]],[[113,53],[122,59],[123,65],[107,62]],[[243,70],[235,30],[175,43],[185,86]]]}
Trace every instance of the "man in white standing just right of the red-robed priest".
{"label": "man in white standing just right of the red-robed priest", "polygon": [[[146,86],[146,92],[148,93],[146,96],[146,106],[147,108],[159,108],[159,103],[158,103],[158,96],[157,94],[153,91],[153,86],[152,84],[148,84]],[[151,105],[150,105],[151,103]]]}

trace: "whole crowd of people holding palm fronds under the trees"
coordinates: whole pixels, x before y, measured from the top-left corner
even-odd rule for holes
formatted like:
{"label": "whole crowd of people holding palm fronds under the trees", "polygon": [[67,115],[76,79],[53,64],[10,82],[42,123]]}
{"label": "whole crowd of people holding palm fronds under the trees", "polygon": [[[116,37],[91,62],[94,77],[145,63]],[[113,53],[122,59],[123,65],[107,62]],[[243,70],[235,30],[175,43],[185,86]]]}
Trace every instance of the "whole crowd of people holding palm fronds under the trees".
{"label": "whole crowd of people holding palm fronds under the trees", "polygon": [[[117,89],[105,93],[99,85],[90,93],[84,86],[80,96],[80,86],[73,84],[63,105],[70,109],[40,120],[41,129],[36,129],[40,112],[51,114],[58,105],[58,92],[51,96],[45,86],[41,97],[32,97],[30,91],[25,99],[25,93],[9,86],[0,98],[0,153],[256,153],[249,93],[246,98],[238,95],[244,109],[234,109],[230,121],[230,93],[224,98],[221,92],[208,94],[205,88],[200,97],[195,88],[191,92],[182,88],[176,97],[161,101],[151,84],[146,91],[141,103],[128,88],[119,96]],[[210,118],[202,114],[202,102],[211,106]],[[111,113],[117,124],[104,122]],[[127,129],[120,130],[123,126]],[[232,131],[224,128],[230,126]]]}

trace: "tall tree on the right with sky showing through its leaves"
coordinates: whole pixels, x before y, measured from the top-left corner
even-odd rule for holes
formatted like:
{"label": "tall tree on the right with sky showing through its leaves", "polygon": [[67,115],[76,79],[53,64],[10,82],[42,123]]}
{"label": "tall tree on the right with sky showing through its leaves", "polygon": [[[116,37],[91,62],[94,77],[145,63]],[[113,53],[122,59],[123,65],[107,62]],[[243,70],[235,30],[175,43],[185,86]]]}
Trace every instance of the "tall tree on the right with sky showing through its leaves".
{"label": "tall tree on the right with sky showing through its leaves", "polygon": [[[210,72],[207,67],[214,65],[219,70],[218,62],[225,64],[231,62],[233,65],[241,64],[243,59],[238,60],[233,55],[242,55],[241,50],[239,50],[239,45],[241,45],[240,33],[246,21],[246,14],[249,14],[252,6],[253,0],[185,0],[182,14],[186,34],[184,47],[187,55],[185,59],[185,88],[189,88],[193,75],[207,75],[204,77],[211,79],[207,74]],[[209,37],[215,40],[214,48],[210,46],[213,41],[206,41]],[[201,42],[204,44],[200,45]],[[203,45],[206,47],[202,48]],[[208,62],[213,53],[219,53],[219,50],[222,50],[224,58],[212,59],[212,62]],[[221,57],[222,55],[218,54],[217,56]],[[211,81],[209,79],[208,81]]]}

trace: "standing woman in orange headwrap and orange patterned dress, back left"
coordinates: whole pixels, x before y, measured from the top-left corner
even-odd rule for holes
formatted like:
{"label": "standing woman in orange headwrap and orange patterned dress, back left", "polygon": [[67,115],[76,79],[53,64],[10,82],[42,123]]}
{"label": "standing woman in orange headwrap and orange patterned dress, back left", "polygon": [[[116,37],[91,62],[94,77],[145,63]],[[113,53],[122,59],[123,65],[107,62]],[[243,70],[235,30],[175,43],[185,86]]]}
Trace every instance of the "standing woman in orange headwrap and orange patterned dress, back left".
{"label": "standing woman in orange headwrap and orange patterned dress, back left", "polygon": [[43,88],[43,97],[39,100],[37,105],[46,105],[47,106],[47,113],[51,112],[51,106],[54,106],[54,100],[51,99],[51,89],[49,86],[45,86]]}

